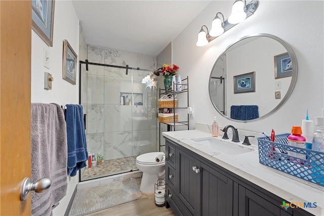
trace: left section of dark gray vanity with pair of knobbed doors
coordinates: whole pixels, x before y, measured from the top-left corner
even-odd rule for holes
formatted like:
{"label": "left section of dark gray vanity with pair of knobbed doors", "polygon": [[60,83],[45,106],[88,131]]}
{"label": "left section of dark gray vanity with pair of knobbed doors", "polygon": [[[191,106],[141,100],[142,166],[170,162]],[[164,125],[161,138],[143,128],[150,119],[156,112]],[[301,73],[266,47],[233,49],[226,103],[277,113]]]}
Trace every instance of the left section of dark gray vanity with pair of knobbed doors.
{"label": "left section of dark gray vanity with pair of knobbed doors", "polygon": [[167,207],[176,206],[179,215],[232,215],[233,181],[193,157],[190,151],[175,147],[169,140],[166,143],[167,155],[168,150],[176,149],[175,169],[167,156]]}

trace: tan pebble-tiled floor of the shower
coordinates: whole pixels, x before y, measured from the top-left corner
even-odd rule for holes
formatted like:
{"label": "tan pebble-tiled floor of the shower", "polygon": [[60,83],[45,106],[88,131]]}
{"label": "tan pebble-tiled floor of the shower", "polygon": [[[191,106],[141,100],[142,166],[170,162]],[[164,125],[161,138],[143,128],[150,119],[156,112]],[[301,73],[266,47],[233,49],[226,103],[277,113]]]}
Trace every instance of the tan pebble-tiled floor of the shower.
{"label": "tan pebble-tiled floor of the shower", "polygon": [[105,160],[100,165],[86,167],[82,170],[81,181],[112,176],[123,172],[138,170],[136,156]]}

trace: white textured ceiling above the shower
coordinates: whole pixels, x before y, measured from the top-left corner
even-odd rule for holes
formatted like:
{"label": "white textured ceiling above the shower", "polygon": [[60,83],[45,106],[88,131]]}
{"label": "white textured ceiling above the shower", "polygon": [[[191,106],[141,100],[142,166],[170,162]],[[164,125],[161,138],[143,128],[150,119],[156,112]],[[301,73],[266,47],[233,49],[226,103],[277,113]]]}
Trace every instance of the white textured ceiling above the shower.
{"label": "white textured ceiling above the shower", "polygon": [[210,2],[73,0],[72,4],[87,45],[157,56]]}

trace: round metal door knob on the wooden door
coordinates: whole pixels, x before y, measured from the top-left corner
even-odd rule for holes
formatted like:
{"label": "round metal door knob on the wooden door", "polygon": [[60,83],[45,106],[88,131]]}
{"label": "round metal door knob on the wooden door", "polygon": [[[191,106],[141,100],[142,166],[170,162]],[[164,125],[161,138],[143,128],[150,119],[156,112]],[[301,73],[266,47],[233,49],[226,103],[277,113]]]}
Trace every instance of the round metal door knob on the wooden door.
{"label": "round metal door knob on the wooden door", "polygon": [[52,181],[48,178],[39,179],[35,183],[32,183],[30,178],[25,178],[20,188],[20,200],[26,200],[30,191],[35,191],[36,193],[45,192],[51,187],[51,184]]}

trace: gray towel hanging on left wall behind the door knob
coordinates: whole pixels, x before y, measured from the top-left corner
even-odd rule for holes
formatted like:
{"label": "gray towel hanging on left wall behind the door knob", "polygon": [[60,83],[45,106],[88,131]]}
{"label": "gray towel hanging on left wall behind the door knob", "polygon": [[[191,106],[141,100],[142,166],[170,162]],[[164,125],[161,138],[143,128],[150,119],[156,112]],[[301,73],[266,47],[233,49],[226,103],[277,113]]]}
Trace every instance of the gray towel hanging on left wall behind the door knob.
{"label": "gray towel hanging on left wall behind the door knob", "polygon": [[49,178],[52,185],[44,193],[31,192],[32,215],[52,215],[52,206],[66,195],[66,123],[58,104],[31,104],[32,182]]}

